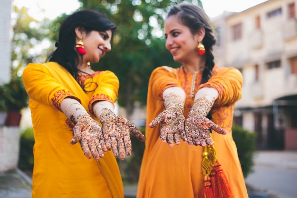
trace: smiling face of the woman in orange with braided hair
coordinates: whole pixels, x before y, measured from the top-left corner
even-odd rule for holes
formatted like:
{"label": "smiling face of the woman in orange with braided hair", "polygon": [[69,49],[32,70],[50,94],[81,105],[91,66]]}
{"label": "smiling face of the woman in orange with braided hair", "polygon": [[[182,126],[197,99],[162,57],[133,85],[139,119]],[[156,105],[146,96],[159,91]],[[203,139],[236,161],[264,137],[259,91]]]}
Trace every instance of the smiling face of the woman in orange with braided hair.
{"label": "smiling face of the woman in orange with braided hair", "polygon": [[200,40],[199,35],[193,35],[187,26],[179,22],[176,15],[166,19],[164,28],[165,46],[175,61],[185,62],[189,58],[198,57],[196,47]]}

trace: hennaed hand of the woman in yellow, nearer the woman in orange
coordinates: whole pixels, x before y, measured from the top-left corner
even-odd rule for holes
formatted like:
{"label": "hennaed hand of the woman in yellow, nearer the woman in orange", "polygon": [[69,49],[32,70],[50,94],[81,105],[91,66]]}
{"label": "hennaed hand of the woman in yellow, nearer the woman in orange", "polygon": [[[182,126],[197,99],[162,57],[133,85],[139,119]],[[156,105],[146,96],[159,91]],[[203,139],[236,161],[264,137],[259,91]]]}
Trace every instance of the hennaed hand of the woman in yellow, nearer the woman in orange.
{"label": "hennaed hand of the woman in yellow, nearer the woman in orange", "polygon": [[107,149],[112,152],[115,157],[120,155],[120,159],[131,155],[132,147],[130,140],[130,131],[136,136],[140,141],[145,141],[145,136],[140,132],[140,130],[127,118],[122,116],[116,116],[108,108],[104,108],[100,121],[103,125],[102,131],[106,143]]}

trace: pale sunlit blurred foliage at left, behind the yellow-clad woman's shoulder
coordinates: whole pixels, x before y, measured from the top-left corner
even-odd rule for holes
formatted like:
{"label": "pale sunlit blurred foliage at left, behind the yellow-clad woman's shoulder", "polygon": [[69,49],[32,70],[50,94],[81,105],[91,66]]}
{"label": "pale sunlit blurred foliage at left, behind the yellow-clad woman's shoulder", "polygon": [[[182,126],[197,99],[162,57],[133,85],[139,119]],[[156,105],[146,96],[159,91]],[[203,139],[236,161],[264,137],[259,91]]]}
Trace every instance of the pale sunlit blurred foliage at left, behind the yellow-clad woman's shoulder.
{"label": "pale sunlit blurred foliage at left, behind the yellow-clad woman's shoulder", "polygon": [[[22,70],[28,63],[44,62],[50,48],[47,39],[51,30],[48,29],[51,21],[44,19],[37,21],[28,14],[28,9],[14,7],[13,36],[11,46],[11,78],[21,76]],[[49,48],[44,48],[48,46]]]}

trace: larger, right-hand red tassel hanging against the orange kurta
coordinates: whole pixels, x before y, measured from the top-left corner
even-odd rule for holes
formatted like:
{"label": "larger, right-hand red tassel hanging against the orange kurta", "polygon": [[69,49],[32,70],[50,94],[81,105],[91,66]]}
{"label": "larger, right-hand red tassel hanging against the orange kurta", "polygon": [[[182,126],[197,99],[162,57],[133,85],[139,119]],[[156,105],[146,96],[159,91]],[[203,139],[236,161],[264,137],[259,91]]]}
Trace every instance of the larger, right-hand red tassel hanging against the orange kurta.
{"label": "larger, right-hand red tassel hanging against the orange kurta", "polygon": [[216,162],[214,165],[215,171],[215,198],[229,198],[232,195],[231,187],[227,178],[227,175],[223,171],[220,162]]}

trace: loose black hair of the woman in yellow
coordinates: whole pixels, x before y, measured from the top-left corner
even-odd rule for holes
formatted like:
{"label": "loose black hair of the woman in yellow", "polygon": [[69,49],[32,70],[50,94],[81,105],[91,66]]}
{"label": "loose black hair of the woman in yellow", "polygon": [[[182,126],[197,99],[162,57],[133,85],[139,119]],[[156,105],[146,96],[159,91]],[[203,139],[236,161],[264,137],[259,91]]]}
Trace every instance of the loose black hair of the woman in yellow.
{"label": "loose black hair of the woman in yellow", "polygon": [[104,14],[99,11],[86,9],[75,12],[68,16],[61,24],[59,30],[59,39],[56,44],[57,49],[49,55],[49,61],[57,62],[62,65],[69,73],[77,79],[79,56],[75,49],[76,34],[75,28],[83,28],[87,35],[95,31],[111,30],[112,33],[116,29],[113,24]]}

